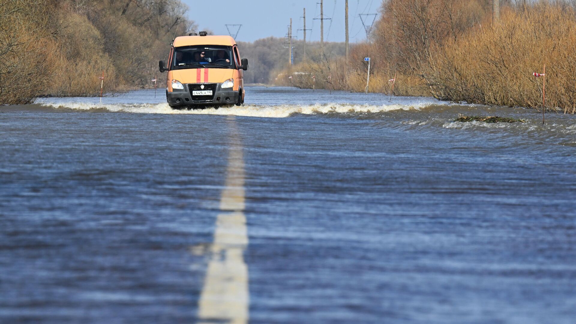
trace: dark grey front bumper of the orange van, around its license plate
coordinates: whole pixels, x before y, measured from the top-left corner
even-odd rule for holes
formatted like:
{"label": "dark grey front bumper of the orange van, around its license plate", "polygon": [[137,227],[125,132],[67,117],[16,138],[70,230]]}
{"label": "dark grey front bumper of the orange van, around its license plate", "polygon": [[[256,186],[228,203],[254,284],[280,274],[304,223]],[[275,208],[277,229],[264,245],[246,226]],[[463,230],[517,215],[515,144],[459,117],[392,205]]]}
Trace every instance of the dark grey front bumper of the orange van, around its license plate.
{"label": "dark grey front bumper of the orange van, around its license plate", "polygon": [[[201,89],[200,87],[203,86]],[[173,92],[166,91],[166,100],[170,106],[218,106],[238,103],[240,91],[232,88],[222,89],[222,84],[214,83],[191,83],[184,84],[184,89],[174,89]],[[192,96],[192,91],[211,90],[211,96]]]}

